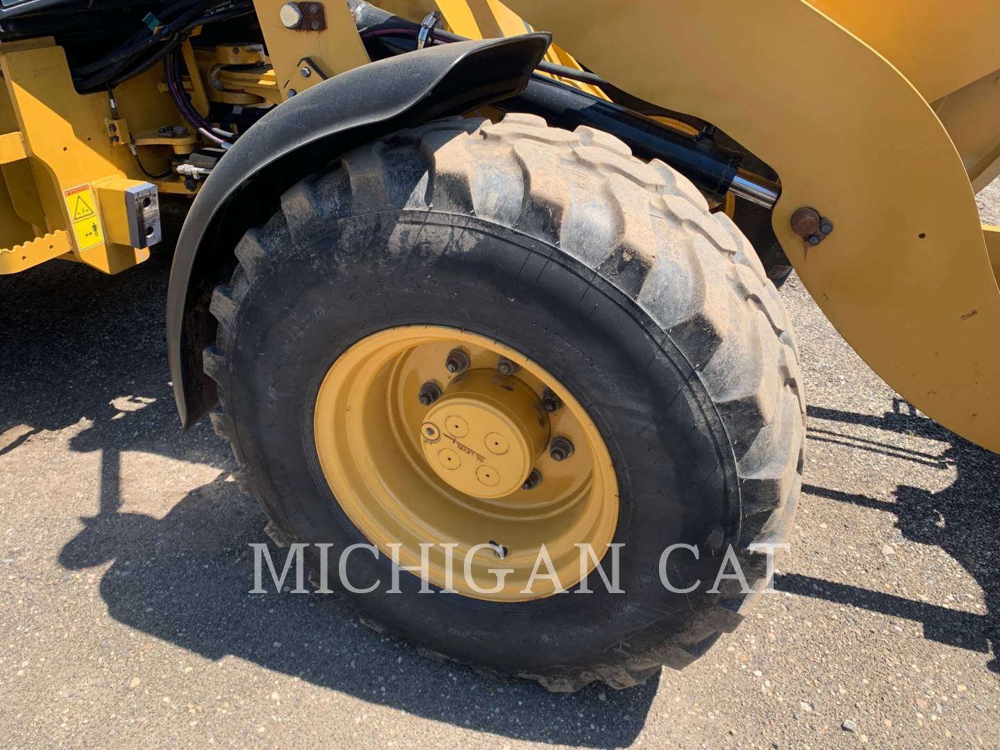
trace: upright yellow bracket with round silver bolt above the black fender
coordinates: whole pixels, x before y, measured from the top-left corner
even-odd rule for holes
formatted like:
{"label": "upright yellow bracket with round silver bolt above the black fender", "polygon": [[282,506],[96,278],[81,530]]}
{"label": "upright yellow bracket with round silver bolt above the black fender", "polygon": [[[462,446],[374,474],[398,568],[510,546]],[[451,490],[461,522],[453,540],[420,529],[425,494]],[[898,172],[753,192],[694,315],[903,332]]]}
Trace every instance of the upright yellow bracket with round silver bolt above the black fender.
{"label": "upright yellow bracket with round silver bolt above the black fender", "polygon": [[[284,4],[284,0],[254,0],[282,97],[287,97],[289,91],[315,86],[323,76],[331,78],[370,62],[347,3],[323,3],[327,28],[322,31],[285,28],[279,16]],[[323,75],[302,76],[299,69],[305,58],[312,60]]]}

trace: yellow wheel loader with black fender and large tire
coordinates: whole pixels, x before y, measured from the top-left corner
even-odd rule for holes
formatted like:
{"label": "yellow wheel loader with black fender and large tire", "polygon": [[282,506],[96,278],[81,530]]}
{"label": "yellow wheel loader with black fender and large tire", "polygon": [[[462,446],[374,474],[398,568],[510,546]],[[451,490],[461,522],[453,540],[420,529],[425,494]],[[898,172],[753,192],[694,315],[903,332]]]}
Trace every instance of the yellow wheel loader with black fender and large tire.
{"label": "yellow wheel loader with black fender and large tire", "polygon": [[184,429],[423,652],[625,688],[739,624],[802,483],[792,269],[1000,450],[996,2],[0,6],[0,273],[126,271],[182,205]]}

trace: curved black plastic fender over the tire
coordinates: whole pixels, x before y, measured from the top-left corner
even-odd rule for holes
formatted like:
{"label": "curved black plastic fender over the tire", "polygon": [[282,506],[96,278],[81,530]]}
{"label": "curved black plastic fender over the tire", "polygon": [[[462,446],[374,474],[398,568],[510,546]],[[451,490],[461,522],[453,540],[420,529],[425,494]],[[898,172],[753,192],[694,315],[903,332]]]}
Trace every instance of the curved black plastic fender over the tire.
{"label": "curved black plastic fender over the tire", "polygon": [[278,209],[285,190],[352,148],[519,94],[551,40],[456,42],[363,65],[275,107],[226,152],[191,205],[170,270],[167,356],[185,430],[217,403],[202,370],[216,334],[208,304],[243,233]]}

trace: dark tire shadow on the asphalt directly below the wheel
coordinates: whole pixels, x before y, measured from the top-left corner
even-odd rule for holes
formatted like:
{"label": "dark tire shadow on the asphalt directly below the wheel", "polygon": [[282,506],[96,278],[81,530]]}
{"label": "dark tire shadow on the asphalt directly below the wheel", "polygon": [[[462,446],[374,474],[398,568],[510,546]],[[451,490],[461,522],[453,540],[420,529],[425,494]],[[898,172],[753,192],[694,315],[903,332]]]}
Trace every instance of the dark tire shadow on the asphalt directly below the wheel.
{"label": "dark tire shadow on the asphalt directly below the wheel", "polygon": [[[254,564],[249,542],[267,541],[279,568],[287,550],[270,544],[256,503],[225,474],[190,492],[162,519],[109,505],[83,520],[86,528],[66,544],[59,562],[78,570],[113,560],[100,582],[111,617],[209,659],[233,655],[415,716],[567,745],[632,744],[656,694],[658,679],[619,693],[591,686],[574,695],[553,695],[522,680],[484,679],[359,627],[353,607],[335,596],[279,595],[266,573],[270,593],[247,593]],[[495,712],[498,706],[503,710]]]}

